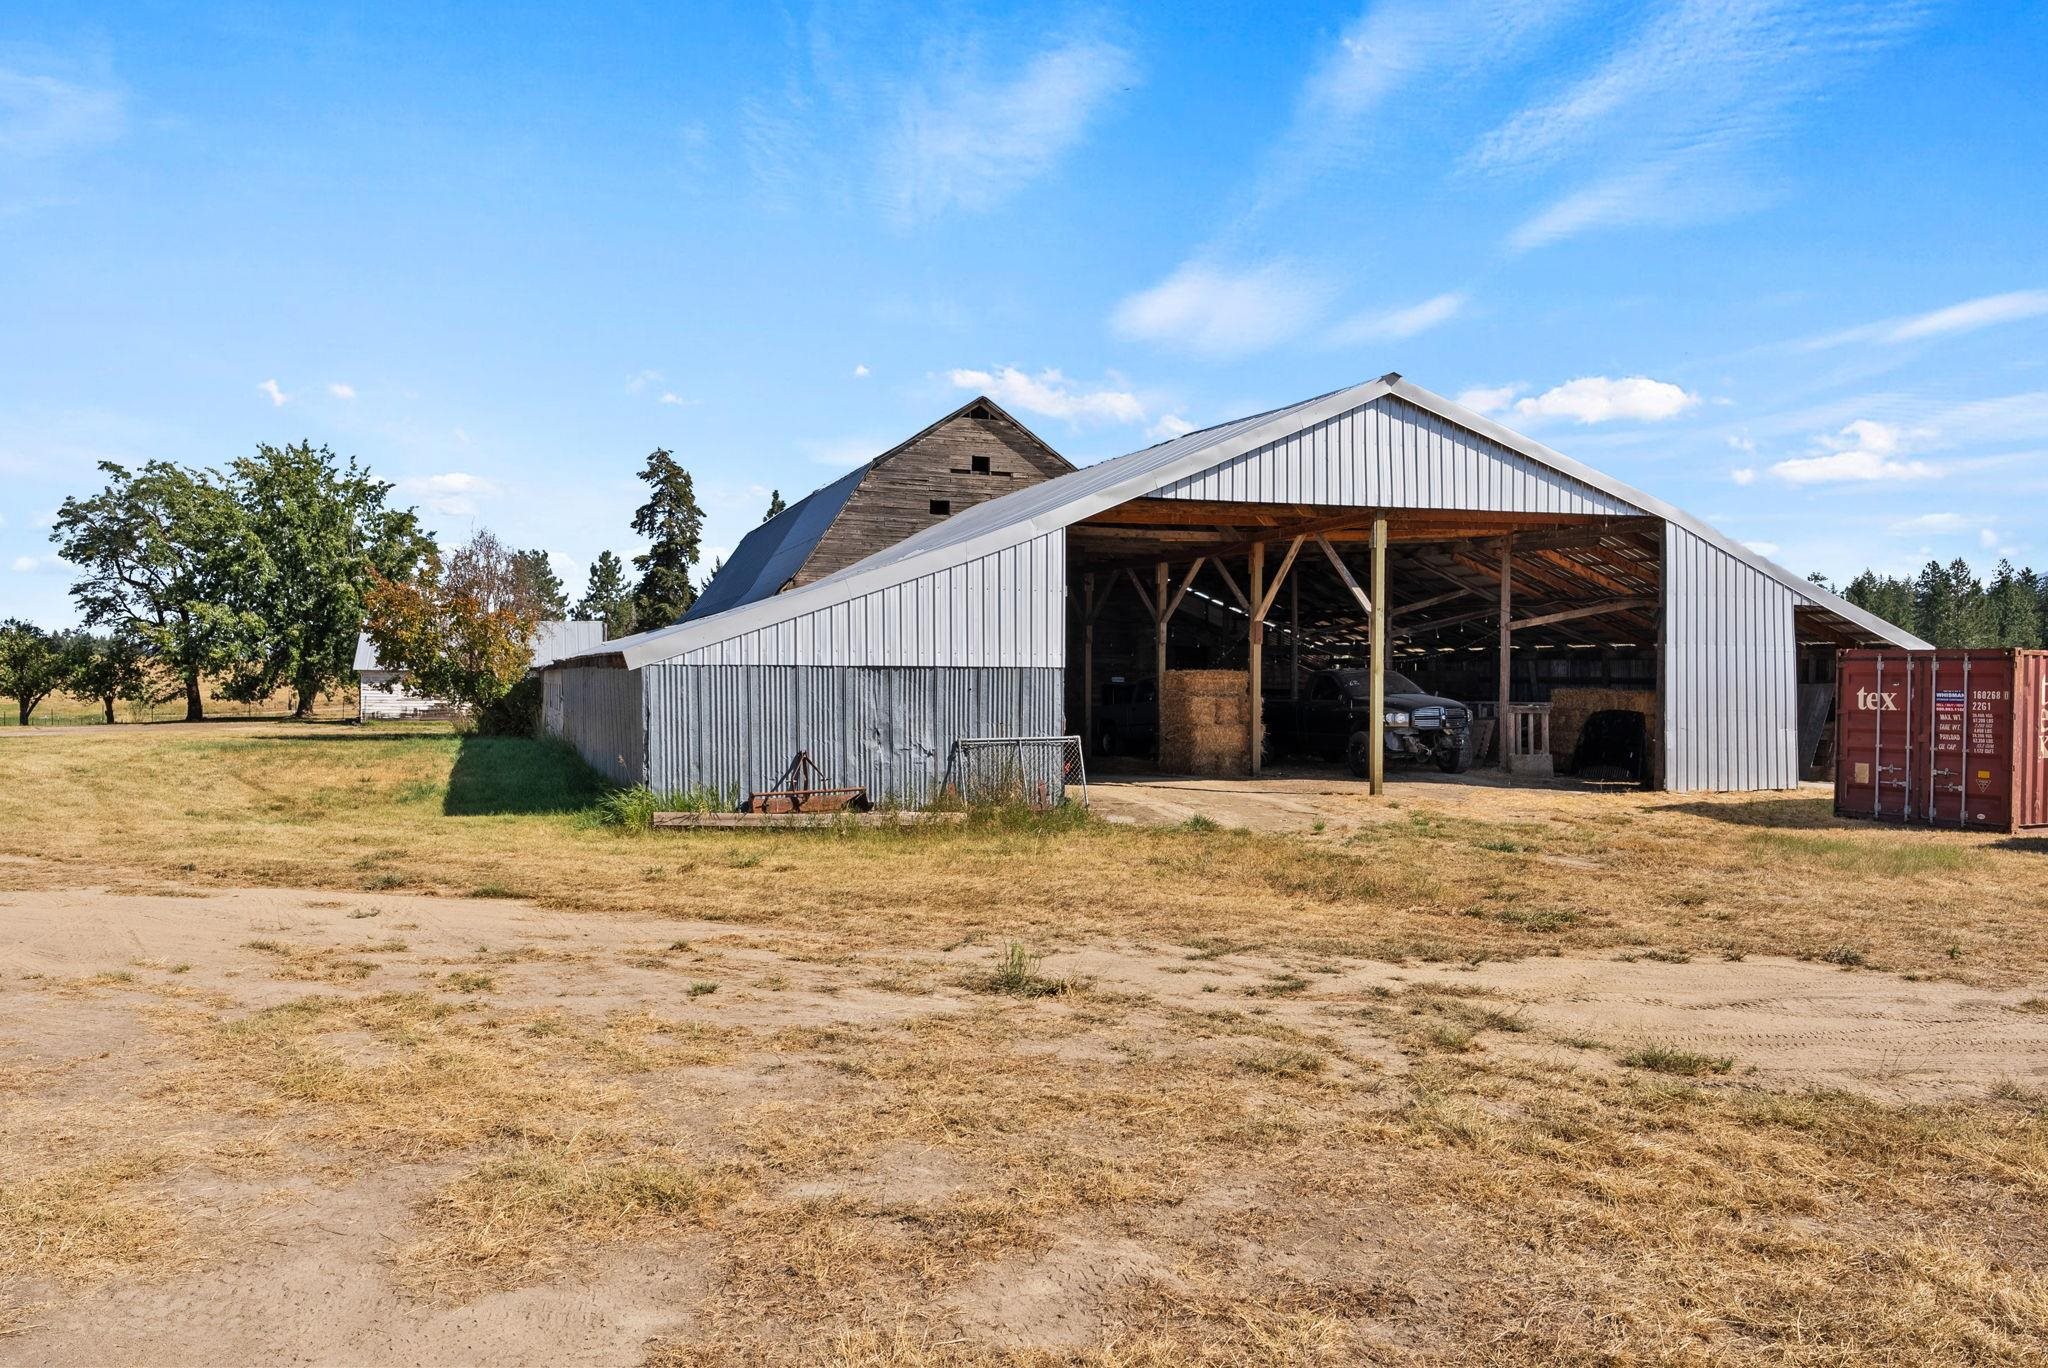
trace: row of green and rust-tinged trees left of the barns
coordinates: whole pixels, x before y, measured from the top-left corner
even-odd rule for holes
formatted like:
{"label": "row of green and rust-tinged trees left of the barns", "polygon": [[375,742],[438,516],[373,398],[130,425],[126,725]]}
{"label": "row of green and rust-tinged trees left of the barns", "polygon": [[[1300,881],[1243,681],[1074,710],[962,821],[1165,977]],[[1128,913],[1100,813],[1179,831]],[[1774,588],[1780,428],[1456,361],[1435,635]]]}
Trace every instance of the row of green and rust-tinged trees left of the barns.
{"label": "row of green and rust-tinged trees left of the barns", "polygon": [[[547,618],[604,623],[606,637],[668,627],[696,602],[705,514],[690,473],[653,451],[633,530],[647,551],[602,551],[569,602],[547,551],[510,549],[487,528],[442,551],[395,485],[328,446],[260,444],[225,469],[100,463],[104,487],[68,498],[51,541],[78,569],[84,629],[0,623],[0,694],[20,723],[55,692],[156,707],[184,696],[186,721],[215,698],[289,690],[293,715],[354,676],[356,633],[426,692],[487,707],[524,674]],[[780,504],[780,496],[774,500]]]}

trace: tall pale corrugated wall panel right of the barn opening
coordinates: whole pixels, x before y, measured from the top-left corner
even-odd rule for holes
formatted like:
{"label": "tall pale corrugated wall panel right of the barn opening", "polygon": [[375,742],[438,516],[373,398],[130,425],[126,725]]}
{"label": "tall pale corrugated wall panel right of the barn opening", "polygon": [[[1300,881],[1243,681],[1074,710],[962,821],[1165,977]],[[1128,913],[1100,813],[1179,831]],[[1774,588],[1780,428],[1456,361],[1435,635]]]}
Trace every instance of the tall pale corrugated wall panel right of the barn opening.
{"label": "tall pale corrugated wall panel right of the barn opening", "polygon": [[1665,788],[1798,784],[1794,594],[1665,524]]}

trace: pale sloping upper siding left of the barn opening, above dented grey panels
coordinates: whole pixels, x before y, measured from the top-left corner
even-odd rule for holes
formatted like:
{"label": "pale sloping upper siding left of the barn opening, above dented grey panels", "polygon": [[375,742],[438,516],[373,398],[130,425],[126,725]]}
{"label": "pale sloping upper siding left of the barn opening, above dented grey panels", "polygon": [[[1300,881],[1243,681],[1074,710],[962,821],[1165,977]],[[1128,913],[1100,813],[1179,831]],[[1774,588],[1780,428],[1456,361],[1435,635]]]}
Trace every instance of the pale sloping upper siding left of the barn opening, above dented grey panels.
{"label": "pale sloping upper siding left of the barn opening, above dented grey panels", "polygon": [[1067,664],[1067,535],[991,555],[743,631],[674,657],[684,666],[1024,666]]}

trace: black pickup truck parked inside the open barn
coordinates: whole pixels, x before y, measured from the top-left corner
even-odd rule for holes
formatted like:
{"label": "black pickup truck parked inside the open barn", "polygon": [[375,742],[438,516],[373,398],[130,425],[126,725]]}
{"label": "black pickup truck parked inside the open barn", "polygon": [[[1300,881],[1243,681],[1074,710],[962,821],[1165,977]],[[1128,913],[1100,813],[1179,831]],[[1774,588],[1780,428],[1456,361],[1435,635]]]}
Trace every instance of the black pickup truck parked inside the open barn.
{"label": "black pickup truck parked inside the open barn", "polygon": [[[1370,709],[1370,670],[1319,670],[1300,698],[1266,698],[1266,750],[1343,760],[1364,776],[1372,764]],[[1434,760],[1446,774],[1464,774],[1473,768],[1473,711],[1389,670],[1386,758]]]}

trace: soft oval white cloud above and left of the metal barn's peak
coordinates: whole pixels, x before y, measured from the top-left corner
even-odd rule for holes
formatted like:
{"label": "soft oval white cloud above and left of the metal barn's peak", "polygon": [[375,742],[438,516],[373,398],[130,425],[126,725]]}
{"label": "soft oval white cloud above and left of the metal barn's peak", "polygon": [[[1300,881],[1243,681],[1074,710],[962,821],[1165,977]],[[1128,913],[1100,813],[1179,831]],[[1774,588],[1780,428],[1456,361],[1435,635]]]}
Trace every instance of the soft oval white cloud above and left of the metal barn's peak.
{"label": "soft oval white cloud above and left of the metal barn's peak", "polygon": [[1245,356],[1298,336],[1323,315],[1325,297],[1325,287],[1286,262],[1247,270],[1190,262],[1118,303],[1110,328],[1204,356]]}

